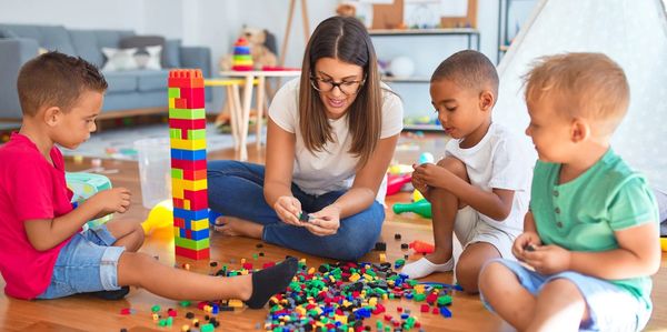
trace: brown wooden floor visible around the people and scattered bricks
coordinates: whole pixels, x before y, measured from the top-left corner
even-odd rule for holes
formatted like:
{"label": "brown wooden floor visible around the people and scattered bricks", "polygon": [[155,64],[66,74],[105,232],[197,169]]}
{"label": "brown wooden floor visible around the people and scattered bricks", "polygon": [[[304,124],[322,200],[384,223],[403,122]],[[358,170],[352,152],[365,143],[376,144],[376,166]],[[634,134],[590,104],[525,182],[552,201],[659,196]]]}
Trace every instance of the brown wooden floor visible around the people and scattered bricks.
{"label": "brown wooden floor visible around the people and scattered bricks", "polygon": [[[401,140],[396,159],[404,163],[416,161],[419,153],[430,151],[434,154],[441,154],[444,143],[441,138],[411,138]],[[249,145],[249,158],[252,162],[263,162],[263,151],[257,150],[255,145]],[[210,159],[236,159],[237,153],[233,150],[213,152]],[[67,160],[68,171],[89,169],[90,160],[76,163],[73,160]],[[132,192],[132,207],[129,212],[122,215],[116,215],[116,219],[145,220],[148,210],[141,205],[141,192],[136,162],[112,161],[103,162],[106,169],[117,169],[119,172],[110,174],[115,187],[127,187]],[[410,200],[409,193],[400,193],[389,197],[387,200],[390,207],[394,202],[405,202]],[[402,240],[394,240],[395,233],[401,233]],[[201,273],[211,272],[207,262],[192,262],[173,256],[173,240],[170,229],[156,232],[147,238],[146,244],[141,251],[151,255],[159,256],[165,264],[181,265],[188,262],[192,265],[191,270]],[[395,215],[390,209],[387,210],[387,220],[382,229],[381,241],[387,242],[387,259],[394,261],[402,258],[406,253],[400,250],[400,242],[410,242],[412,240],[425,240],[432,242],[430,232],[430,221],[414,215]],[[227,238],[220,234],[213,234],[211,239],[211,261],[229,264],[230,268],[240,268],[241,258],[251,260],[255,253],[259,252],[256,244],[258,240],[242,238]],[[309,256],[291,250],[277,248],[266,244],[261,249],[266,254],[259,258],[256,265],[268,261],[282,260],[286,254],[297,255],[307,259],[309,266],[317,266],[325,260]],[[417,259],[412,255],[410,259]],[[236,263],[230,264],[235,260]],[[379,261],[378,252],[370,252],[364,259],[365,261]],[[655,288],[653,299],[655,311],[648,325],[648,331],[667,331],[667,259],[663,258],[663,264],[659,273],[654,278]],[[428,278],[429,281],[452,282],[451,273],[440,273]],[[0,279],[0,286],[4,286],[4,281]],[[165,311],[167,308],[178,310],[178,316],[171,329],[159,328],[151,319],[150,309],[158,304]],[[419,308],[414,302],[407,300],[388,301],[388,313],[399,316],[396,306],[409,308],[418,316],[426,331],[511,331],[512,329],[505,324],[494,314],[484,309],[478,296],[455,293],[451,319],[442,319],[430,313],[420,314]],[[131,315],[121,315],[121,309],[131,308],[136,312]],[[180,331],[183,324],[190,321],[183,318],[187,311],[196,313],[200,320],[203,312],[196,308],[179,308],[175,301],[166,300],[148,293],[145,290],[132,289],[130,294],[120,301],[102,301],[84,295],[76,295],[67,299],[50,301],[21,301],[0,295],[0,331],[120,331],[126,328],[128,331]],[[245,309],[236,312],[225,312],[218,315],[221,325],[217,331],[240,331],[257,330],[258,323],[263,323],[268,310]],[[375,330],[375,323],[380,316],[367,320],[367,324]]]}

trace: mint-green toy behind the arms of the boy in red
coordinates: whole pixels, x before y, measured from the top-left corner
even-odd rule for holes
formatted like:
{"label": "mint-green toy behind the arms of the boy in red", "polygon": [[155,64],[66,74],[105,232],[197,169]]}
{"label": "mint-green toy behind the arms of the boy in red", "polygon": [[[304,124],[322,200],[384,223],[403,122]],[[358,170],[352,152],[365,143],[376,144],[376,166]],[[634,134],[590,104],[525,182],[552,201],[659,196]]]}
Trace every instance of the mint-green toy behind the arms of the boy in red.
{"label": "mint-green toy behind the arms of the boy in red", "polygon": [[[79,205],[83,203],[86,200],[91,198],[93,194],[102,191],[111,189],[111,180],[104,175],[77,172],[77,173],[66,173],[64,180],[67,182],[67,188],[69,188],[72,192],[72,203]],[[98,218],[91,220],[86,223],[87,228],[96,229],[101,224],[104,224],[113,214],[107,214],[102,218]]]}

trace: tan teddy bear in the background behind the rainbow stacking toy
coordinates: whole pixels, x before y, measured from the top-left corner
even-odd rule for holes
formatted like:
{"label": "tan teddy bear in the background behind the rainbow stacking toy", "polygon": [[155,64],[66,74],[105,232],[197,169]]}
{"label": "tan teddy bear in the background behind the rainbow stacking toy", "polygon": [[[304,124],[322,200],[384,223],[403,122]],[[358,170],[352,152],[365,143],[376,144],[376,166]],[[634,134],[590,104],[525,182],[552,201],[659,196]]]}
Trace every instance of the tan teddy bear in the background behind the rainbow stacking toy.
{"label": "tan teddy bear in the background behind the rainbow stacking toy", "polygon": [[[239,38],[248,40],[255,69],[261,70],[263,67],[276,67],[278,64],[276,37],[271,32],[266,29],[243,26]],[[219,64],[222,70],[231,70],[232,54],[222,57]]]}

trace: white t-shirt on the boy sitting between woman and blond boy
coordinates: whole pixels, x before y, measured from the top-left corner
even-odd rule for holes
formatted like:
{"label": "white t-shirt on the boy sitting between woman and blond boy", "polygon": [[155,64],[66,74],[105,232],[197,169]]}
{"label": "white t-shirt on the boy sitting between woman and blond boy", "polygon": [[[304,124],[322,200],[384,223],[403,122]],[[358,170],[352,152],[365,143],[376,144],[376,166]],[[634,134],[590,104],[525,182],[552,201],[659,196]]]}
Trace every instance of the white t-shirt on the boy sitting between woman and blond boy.
{"label": "white t-shirt on the boy sitting between woman and blond boy", "polygon": [[491,227],[519,234],[524,230],[524,218],[530,202],[532,168],[537,158],[529,140],[498,123],[491,123],[477,145],[461,149],[460,142],[447,142],[445,157],[452,155],[466,164],[472,185],[489,192],[494,188],[515,191],[511,211],[506,220],[497,221],[478,212],[480,219]]}

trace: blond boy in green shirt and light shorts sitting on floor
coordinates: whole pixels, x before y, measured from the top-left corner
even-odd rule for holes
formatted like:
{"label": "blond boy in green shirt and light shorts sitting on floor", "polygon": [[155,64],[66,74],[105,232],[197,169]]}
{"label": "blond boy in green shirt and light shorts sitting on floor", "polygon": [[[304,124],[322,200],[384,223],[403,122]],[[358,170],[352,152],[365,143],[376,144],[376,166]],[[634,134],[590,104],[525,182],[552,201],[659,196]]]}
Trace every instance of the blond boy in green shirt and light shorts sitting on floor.
{"label": "blond boy in green shirt and light shorts sitting on floor", "polygon": [[[526,129],[539,161],[512,252],[488,263],[482,299],[520,331],[638,331],[660,265],[658,209],[609,140],[629,88],[600,53],[546,57],[526,76]],[[528,268],[527,268],[528,266]]]}

